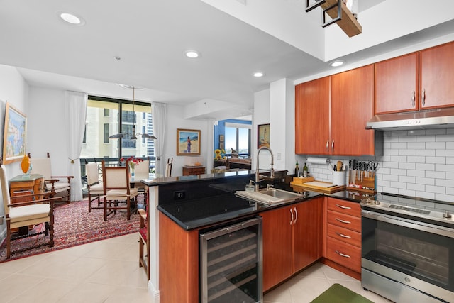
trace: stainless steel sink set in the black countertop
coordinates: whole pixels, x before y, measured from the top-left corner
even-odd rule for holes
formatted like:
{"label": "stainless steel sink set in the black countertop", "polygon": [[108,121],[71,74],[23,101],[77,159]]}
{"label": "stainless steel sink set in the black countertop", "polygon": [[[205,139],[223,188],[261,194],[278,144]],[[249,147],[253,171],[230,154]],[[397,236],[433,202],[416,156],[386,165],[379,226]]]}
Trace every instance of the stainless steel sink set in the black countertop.
{"label": "stainless steel sink set in the black countertop", "polygon": [[246,192],[245,190],[238,190],[235,192],[235,195],[236,197],[265,205],[283,204],[304,198],[302,194],[275,188],[262,189],[258,192]]}

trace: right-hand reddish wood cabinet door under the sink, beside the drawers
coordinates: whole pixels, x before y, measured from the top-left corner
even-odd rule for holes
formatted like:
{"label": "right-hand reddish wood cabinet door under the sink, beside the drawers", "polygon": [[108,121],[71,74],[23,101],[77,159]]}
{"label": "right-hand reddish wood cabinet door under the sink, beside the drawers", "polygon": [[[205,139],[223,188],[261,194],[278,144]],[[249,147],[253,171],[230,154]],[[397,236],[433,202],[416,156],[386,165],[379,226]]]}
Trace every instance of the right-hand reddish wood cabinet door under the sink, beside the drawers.
{"label": "right-hand reddish wood cabinet door under the sink, beside the drawers", "polygon": [[321,258],[323,198],[295,204],[293,272]]}

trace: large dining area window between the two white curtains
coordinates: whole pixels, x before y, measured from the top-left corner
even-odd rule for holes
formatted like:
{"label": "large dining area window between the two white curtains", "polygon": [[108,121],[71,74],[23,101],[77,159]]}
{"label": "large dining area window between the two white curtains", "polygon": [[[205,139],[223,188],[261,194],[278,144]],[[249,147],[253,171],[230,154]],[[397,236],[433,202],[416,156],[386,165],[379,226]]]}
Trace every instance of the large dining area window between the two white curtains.
{"label": "large dining area window between the two white curtains", "polygon": [[[153,135],[151,104],[89,96],[81,158],[154,157],[154,140],[140,136],[138,140],[130,138],[134,124],[136,133]],[[126,136],[109,139],[109,136],[120,133],[120,126],[121,133]]]}

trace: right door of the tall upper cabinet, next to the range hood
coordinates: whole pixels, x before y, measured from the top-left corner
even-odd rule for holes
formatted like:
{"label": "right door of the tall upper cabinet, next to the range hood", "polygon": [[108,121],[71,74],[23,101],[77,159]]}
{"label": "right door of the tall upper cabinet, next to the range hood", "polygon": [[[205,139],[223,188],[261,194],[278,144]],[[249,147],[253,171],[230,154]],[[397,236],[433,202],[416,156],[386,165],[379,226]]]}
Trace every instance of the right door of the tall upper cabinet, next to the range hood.
{"label": "right door of the tall upper cabinet, next to the range hood", "polygon": [[331,76],[331,154],[374,155],[373,104],[373,65]]}

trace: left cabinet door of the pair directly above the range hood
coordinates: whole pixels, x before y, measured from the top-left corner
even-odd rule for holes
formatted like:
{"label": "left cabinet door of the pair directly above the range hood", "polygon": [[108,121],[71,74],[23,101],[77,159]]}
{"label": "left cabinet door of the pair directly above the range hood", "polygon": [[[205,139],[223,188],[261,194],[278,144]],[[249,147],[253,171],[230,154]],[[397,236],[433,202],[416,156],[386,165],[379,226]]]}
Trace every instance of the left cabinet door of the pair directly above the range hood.
{"label": "left cabinet door of the pair directly above the range hood", "polygon": [[375,114],[418,109],[418,53],[375,63]]}

